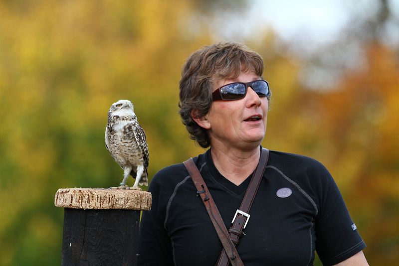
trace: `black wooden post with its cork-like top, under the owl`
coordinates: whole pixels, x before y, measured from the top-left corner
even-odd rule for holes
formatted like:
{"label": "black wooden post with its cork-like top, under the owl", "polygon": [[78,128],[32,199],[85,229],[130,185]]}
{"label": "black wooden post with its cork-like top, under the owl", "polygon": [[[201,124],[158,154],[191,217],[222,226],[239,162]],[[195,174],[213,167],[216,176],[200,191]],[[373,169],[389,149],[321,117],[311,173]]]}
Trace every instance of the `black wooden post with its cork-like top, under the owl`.
{"label": "black wooden post with its cork-like top, under the owl", "polygon": [[62,266],[137,265],[140,211],[151,193],[130,189],[61,188],[54,204],[64,208]]}

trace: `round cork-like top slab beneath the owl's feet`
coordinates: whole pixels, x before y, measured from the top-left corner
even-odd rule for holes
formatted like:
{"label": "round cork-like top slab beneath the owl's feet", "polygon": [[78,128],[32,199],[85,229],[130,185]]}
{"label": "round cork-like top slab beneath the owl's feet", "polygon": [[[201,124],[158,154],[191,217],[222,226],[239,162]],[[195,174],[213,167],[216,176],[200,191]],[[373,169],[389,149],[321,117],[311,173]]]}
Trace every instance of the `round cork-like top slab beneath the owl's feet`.
{"label": "round cork-like top slab beneath the owl's feet", "polygon": [[151,209],[151,193],[141,190],[115,188],[60,188],[54,205],[72,209]]}

